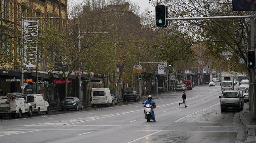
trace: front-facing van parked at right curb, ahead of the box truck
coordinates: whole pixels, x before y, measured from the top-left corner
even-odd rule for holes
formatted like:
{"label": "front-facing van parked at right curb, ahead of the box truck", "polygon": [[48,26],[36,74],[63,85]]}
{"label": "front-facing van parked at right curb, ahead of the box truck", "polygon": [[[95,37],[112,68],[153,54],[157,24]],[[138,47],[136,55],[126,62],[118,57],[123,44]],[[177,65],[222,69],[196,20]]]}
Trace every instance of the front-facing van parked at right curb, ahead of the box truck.
{"label": "front-facing van parked at right curb, ahead of the box truck", "polygon": [[244,97],[240,91],[225,90],[219,98],[221,111],[224,111],[225,109],[241,111],[244,109]]}

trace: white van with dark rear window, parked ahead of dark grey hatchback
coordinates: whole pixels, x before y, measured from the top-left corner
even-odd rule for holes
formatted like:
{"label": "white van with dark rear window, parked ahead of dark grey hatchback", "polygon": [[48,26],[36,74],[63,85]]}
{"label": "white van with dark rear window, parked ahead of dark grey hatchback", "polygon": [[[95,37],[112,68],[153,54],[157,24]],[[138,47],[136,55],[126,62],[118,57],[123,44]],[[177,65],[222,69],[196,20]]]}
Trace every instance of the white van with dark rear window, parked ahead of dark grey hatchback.
{"label": "white van with dark rear window, parked ahead of dark grey hatchback", "polygon": [[110,94],[109,88],[92,88],[92,108],[96,105],[113,106],[114,102]]}

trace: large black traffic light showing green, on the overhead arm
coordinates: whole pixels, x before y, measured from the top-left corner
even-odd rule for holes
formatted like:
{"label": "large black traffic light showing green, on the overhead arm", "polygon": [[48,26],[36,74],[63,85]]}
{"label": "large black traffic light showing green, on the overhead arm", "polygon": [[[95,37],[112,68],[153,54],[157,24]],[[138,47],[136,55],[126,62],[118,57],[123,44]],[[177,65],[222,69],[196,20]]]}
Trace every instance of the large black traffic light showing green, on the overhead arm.
{"label": "large black traffic light showing green, on the overhead arm", "polygon": [[166,21],[167,14],[167,7],[165,5],[156,5],[156,26],[157,27],[167,27],[168,22]]}

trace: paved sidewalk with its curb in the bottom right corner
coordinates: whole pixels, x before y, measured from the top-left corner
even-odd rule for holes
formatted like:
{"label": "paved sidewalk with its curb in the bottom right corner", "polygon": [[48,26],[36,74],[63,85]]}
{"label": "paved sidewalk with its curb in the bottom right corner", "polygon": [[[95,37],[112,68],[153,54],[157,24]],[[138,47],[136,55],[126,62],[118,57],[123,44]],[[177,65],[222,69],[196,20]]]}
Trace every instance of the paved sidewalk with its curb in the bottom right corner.
{"label": "paved sidewalk with its curb in the bottom right corner", "polygon": [[247,132],[247,143],[256,143],[255,131],[256,120],[251,120],[251,111],[249,111],[249,103],[244,104],[244,110],[240,113],[240,119],[244,124],[245,131]]}

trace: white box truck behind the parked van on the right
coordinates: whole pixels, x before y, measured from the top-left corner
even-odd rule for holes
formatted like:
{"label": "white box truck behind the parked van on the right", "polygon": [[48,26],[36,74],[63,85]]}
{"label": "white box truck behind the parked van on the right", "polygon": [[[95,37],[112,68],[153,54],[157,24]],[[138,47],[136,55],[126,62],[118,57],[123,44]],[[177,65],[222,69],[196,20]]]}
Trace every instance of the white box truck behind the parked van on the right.
{"label": "white box truck behind the parked van on the right", "polygon": [[233,75],[221,76],[220,89],[221,93],[225,90],[234,90],[234,78]]}

